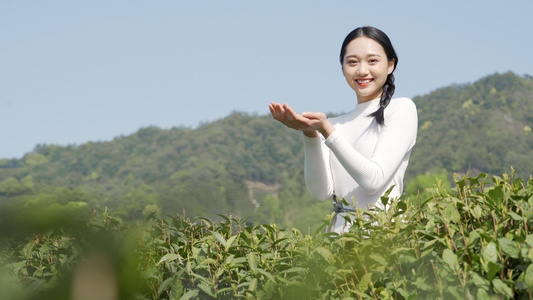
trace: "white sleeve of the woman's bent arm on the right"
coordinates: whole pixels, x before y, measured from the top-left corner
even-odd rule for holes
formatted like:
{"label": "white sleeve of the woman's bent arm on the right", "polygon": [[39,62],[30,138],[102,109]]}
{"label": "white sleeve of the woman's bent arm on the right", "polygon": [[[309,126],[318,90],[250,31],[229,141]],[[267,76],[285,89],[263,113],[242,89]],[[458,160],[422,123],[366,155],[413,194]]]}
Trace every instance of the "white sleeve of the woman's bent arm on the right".
{"label": "white sleeve of the woman's bent arm on the right", "polygon": [[[353,180],[367,194],[374,194],[383,190],[402,162],[407,166],[410,151],[416,142],[417,124],[415,104],[406,98],[394,99],[385,109],[385,125],[378,131],[379,136],[370,157],[362,155],[350,145],[339,130],[334,131],[325,144]],[[366,146],[370,145],[363,145]]]}

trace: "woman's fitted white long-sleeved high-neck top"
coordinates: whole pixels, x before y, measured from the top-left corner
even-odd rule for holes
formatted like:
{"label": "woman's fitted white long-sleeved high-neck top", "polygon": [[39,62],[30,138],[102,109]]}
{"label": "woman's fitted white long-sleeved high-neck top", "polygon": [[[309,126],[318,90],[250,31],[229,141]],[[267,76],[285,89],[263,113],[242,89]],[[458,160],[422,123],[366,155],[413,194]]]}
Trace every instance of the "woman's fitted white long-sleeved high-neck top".
{"label": "woman's fitted white long-sleeved high-neck top", "polygon": [[368,116],[378,108],[379,99],[357,104],[354,111],[330,119],[335,131],[327,139],[304,136],[305,182],[313,197],[324,201],[335,194],[366,208],[381,205],[379,199],[392,185],[389,197],[401,196],[416,142],[416,106],[409,98],[392,99],[383,126]]}

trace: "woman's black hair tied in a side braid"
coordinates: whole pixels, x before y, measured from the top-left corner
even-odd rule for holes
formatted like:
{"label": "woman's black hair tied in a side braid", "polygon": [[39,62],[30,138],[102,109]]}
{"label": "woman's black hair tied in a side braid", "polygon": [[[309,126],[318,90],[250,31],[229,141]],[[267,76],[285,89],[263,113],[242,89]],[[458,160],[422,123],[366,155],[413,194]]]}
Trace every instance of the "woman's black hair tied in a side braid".
{"label": "woman's black hair tied in a side braid", "polygon": [[398,65],[398,56],[396,55],[396,51],[394,51],[394,47],[392,47],[392,43],[389,37],[383,31],[375,27],[364,26],[354,29],[344,39],[340,54],[341,65],[344,63],[344,55],[346,54],[346,47],[348,46],[348,44],[361,36],[371,38],[378,42],[381,47],[383,47],[383,50],[385,50],[385,54],[387,54],[388,61],[394,59],[394,69],[387,76],[385,84],[383,84],[383,91],[381,93],[381,99],[379,100],[379,108],[378,110],[369,115],[370,117],[374,117],[378,124],[383,125],[385,124],[385,119],[383,116],[385,107],[389,105],[389,102],[392,99],[392,95],[394,94],[394,90],[396,88],[394,85],[394,75],[392,75],[392,73],[394,73],[394,70],[396,70],[396,65]]}

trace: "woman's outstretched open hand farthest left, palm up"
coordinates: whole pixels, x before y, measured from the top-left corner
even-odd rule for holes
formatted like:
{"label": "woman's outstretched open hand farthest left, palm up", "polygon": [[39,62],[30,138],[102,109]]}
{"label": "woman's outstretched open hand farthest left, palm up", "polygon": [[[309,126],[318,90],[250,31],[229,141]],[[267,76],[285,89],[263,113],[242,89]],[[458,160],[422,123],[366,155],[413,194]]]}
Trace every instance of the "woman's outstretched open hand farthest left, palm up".
{"label": "woman's outstretched open hand farthest left, palm up", "polygon": [[317,130],[313,128],[313,125],[316,125],[316,120],[297,114],[287,104],[281,105],[280,103],[272,102],[268,107],[272,117],[285,126],[302,131],[306,136],[318,137]]}

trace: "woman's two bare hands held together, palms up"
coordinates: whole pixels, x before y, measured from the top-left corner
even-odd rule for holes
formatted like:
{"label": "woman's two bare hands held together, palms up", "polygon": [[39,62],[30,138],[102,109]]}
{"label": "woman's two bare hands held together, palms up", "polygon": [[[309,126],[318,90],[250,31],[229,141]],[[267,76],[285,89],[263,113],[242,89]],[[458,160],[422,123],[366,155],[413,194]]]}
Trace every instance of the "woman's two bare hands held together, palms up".
{"label": "woman's two bare hands held together, palms up", "polygon": [[289,105],[275,102],[268,107],[274,119],[289,128],[302,131],[307,136],[317,137],[320,132],[327,138],[335,130],[324,113],[298,114]]}

